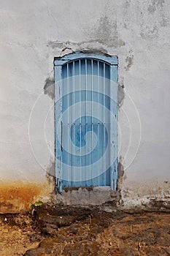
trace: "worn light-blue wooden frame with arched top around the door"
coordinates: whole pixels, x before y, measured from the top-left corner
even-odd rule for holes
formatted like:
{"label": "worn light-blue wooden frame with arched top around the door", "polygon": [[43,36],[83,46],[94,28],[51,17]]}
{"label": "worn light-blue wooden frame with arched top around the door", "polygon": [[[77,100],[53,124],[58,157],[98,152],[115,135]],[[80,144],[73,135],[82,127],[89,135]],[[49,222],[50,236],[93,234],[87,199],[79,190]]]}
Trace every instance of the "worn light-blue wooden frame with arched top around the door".
{"label": "worn light-blue wooden frame with arched top around the door", "polygon": [[[98,54],[88,54],[88,53],[70,53],[66,56],[55,57],[54,59],[54,74],[55,74],[55,104],[54,104],[54,115],[55,115],[55,192],[62,192],[62,145],[58,141],[58,135],[62,138],[62,132],[57,133],[56,128],[58,126],[58,119],[62,113],[62,67],[63,64],[68,63],[69,61],[76,61],[79,59],[93,59],[97,61],[104,61],[106,64],[109,64],[110,67],[110,80],[116,84],[116,89],[114,91],[114,99],[116,99],[117,103],[117,68],[118,68],[118,58],[117,56],[109,56],[109,55],[98,55]],[[112,98],[113,95],[110,95]],[[57,102],[57,107],[56,107]],[[115,119],[117,121],[117,107],[111,106],[110,109],[112,113],[115,115]],[[61,124],[62,125],[62,124]],[[62,130],[62,129],[61,129]],[[115,165],[110,166],[110,184],[112,190],[117,190],[117,149],[118,149],[118,132],[117,125],[111,123],[110,129],[111,148],[114,147],[114,152],[116,154]]]}

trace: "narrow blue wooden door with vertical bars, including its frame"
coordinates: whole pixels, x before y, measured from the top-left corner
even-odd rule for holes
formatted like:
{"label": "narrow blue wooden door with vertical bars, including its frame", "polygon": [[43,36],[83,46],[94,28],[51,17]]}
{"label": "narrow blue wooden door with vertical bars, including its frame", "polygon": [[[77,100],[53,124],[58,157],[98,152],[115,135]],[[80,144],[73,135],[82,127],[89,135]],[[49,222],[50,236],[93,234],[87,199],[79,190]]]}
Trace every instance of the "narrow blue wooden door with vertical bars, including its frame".
{"label": "narrow blue wooden door with vertical bars, including its frame", "polygon": [[55,58],[56,191],[117,189],[117,57]]}

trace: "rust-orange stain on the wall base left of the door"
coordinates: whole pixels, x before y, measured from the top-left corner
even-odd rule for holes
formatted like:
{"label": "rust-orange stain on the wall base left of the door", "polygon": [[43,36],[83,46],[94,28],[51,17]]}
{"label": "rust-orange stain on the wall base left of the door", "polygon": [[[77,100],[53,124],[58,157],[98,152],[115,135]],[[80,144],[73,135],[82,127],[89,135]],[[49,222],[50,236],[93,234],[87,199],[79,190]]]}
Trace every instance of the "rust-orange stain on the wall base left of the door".
{"label": "rust-orange stain on the wall base left of the door", "polygon": [[0,184],[0,213],[28,210],[36,200],[49,197],[50,191],[45,184]]}

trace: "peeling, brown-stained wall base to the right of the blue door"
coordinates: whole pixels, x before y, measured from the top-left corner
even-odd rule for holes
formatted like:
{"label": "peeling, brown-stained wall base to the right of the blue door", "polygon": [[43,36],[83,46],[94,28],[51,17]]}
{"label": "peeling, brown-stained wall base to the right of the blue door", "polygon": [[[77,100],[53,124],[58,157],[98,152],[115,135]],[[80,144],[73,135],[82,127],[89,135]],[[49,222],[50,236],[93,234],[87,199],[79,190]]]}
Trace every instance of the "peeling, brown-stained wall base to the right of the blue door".
{"label": "peeling, brown-stained wall base to the right of the blue door", "polygon": [[169,181],[152,179],[143,182],[131,182],[121,184],[121,197],[123,208],[139,208],[147,211],[166,211],[170,206]]}

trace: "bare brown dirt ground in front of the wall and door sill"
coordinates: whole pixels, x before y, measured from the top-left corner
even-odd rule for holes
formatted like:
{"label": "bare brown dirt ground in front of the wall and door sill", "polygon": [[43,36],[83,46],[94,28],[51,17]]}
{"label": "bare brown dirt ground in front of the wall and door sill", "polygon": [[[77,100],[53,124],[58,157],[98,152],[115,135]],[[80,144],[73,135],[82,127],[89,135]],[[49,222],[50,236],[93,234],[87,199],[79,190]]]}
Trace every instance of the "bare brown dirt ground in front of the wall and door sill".
{"label": "bare brown dirt ground in front of the wall and door sill", "polygon": [[170,214],[42,205],[0,214],[0,255],[170,255]]}

